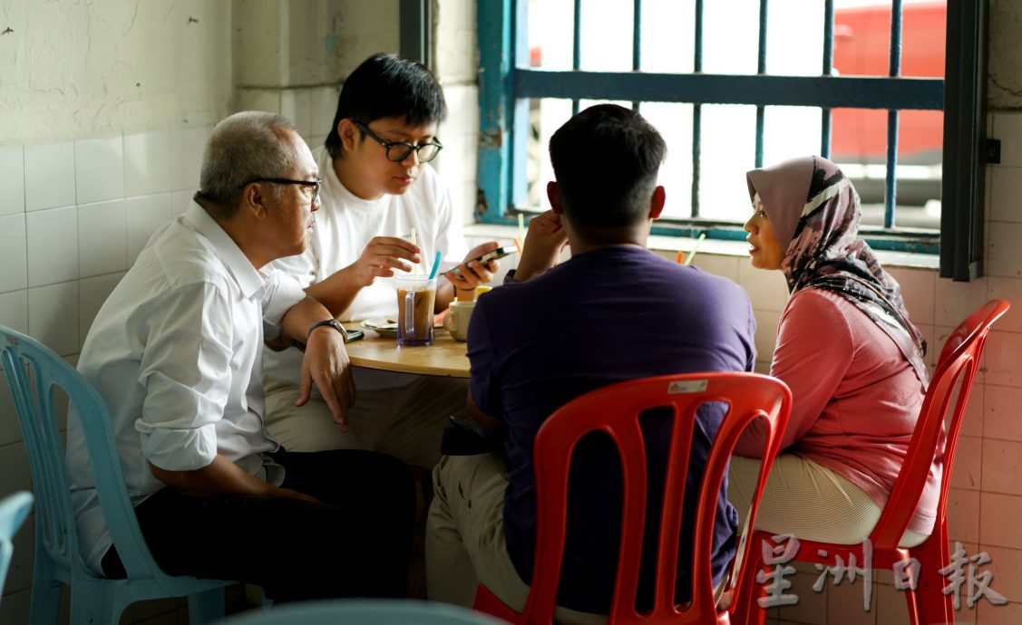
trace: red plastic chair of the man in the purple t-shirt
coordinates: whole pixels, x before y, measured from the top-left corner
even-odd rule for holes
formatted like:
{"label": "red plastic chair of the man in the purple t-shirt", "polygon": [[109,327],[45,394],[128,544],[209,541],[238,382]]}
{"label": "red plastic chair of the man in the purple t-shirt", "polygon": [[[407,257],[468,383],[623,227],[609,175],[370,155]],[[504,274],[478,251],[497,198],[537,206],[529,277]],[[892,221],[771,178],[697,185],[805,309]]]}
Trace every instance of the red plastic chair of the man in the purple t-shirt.
{"label": "red plastic chair of the man in the purple t-shirt", "polygon": [[[699,514],[693,536],[694,562],[690,568],[693,571],[692,602],[687,607],[678,607],[673,595],[679,533],[694,417],[699,405],[710,401],[727,403],[729,411],[710,448],[700,484]],[[639,415],[655,406],[672,406],[675,426],[657,543],[663,546],[656,563],[654,607],[650,613],[639,614],[635,605],[647,497],[646,452]],[[750,422],[763,419],[763,430],[769,431],[769,438],[749,512],[749,518],[753,519],[790,410],[791,391],[786,384],[776,378],[750,373],[703,373],[633,380],[592,391],[565,404],[540,428],[533,447],[539,518],[536,566],[525,610],[521,614],[514,612],[481,584],[476,592],[475,609],[511,623],[548,625],[553,622],[564,555],[571,454],[579,438],[599,430],[618,447],[624,483],[619,566],[608,624],[729,623],[728,611],[718,610],[714,605],[710,570],[721,484],[739,436]],[[741,541],[735,562],[741,563],[747,550]],[[736,585],[731,584],[733,590],[737,590]]]}

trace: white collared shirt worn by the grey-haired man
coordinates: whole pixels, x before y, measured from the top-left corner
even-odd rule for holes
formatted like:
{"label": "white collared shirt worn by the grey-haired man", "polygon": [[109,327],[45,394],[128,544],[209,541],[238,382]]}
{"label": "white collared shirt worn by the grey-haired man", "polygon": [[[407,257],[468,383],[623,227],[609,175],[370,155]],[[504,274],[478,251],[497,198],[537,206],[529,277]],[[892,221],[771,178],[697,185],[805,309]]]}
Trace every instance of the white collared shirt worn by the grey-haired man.
{"label": "white collared shirt worn by the grey-haired man", "polygon": [[[195,202],[153,233],[100,308],[78,364],[109,408],[133,504],[166,487],[150,463],[191,471],[219,453],[283,481],[264,455],[278,445],[263,425],[263,324],[279,326],[304,297],[293,278],[253,268]],[[80,547],[99,572],[110,538],[74,410],[67,465]]]}

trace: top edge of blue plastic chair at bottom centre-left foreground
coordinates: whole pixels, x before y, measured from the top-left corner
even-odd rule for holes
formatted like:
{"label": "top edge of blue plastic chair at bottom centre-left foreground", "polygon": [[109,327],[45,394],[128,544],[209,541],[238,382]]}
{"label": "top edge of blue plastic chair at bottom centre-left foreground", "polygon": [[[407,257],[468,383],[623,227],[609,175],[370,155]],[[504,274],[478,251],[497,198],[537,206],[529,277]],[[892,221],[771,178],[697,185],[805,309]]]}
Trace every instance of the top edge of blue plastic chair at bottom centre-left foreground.
{"label": "top edge of blue plastic chair at bottom centre-left foreground", "polygon": [[224,625],[507,625],[460,606],[416,599],[328,599],[248,612]]}

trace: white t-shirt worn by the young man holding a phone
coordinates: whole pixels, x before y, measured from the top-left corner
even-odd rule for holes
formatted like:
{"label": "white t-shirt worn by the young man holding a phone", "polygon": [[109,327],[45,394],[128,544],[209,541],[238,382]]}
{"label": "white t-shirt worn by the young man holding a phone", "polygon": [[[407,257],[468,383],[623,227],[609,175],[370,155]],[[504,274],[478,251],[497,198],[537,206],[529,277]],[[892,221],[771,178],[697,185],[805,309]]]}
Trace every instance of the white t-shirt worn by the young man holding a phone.
{"label": "white t-shirt worn by the young man holding a phone", "polygon": [[[468,252],[462,234],[462,218],[455,214],[443,181],[428,163],[422,175],[403,195],[383,194],[364,200],[341,184],[333,170],[333,159],[325,147],[314,152],[323,187],[316,228],[305,253],[274,261],[274,267],[297,278],[303,287],[320,282],[358,260],[373,237],[408,239],[415,228],[416,243],[422,252],[422,271],[428,273],[436,250],[443,253],[439,272],[461,263]],[[401,272],[399,272],[400,274]],[[398,318],[398,295],[392,278],[377,278],[356,295],[338,319],[364,321]],[[292,348],[266,350],[266,374],[298,383],[301,353]],[[414,376],[355,368],[356,386],[363,390],[393,388],[410,383]]]}

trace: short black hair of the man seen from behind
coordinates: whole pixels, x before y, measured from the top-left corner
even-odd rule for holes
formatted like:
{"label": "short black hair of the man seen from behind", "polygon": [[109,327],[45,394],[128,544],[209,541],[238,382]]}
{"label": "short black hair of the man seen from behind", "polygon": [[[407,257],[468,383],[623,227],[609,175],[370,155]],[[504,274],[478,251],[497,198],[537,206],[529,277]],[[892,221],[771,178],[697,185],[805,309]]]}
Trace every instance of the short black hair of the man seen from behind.
{"label": "short black hair of the man seen from behind", "polygon": [[568,119],[550,138],[550,160],[571,224],[618,228],[646,219],[666,154],[660,133],[623,106],[597,104]]}

